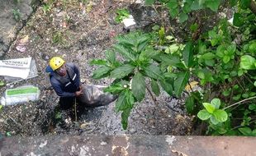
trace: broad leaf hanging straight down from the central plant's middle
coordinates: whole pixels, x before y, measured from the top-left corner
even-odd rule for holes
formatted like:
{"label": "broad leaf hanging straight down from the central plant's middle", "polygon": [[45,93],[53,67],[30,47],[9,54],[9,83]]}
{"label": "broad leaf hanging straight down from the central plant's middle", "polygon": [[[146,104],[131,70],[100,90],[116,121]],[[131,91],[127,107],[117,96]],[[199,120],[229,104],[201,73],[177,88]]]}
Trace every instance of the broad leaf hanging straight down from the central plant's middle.
{"label": "broad leaf hanging straight down from the central plant's middle", "polygon": [[145,86],[144,76],[140,72],[136,73],[131,81],[131,91],[139,102],[145,97]]}

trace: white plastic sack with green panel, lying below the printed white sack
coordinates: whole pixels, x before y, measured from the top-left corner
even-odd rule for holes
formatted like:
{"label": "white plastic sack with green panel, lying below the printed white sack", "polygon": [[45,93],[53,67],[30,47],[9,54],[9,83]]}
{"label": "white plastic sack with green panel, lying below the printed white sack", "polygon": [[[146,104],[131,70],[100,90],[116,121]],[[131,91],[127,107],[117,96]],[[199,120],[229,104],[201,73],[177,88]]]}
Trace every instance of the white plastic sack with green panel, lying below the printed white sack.
{"label": "white plastic sack with green panel, lying below the printed white sack", "polygon": [[7,89],[1,99],[3,106],[18,103],[26,103],[28,101],[36,101],[39,99],[40,89],[33,85],[23,85],[15,89]]}

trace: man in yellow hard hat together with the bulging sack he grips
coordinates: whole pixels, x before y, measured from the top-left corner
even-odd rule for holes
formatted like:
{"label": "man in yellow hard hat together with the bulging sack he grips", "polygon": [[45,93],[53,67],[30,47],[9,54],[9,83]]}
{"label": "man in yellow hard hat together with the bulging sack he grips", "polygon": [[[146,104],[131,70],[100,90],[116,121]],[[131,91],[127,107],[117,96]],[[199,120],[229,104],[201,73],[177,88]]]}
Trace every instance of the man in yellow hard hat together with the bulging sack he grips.
{"label": "man in yellow hard hat together with the bulging sack he grips", "polygon": [[74,99],[84,107],[99,107],[116,99],[112,94],[105,94],[93,85],[83,86],[80,82],[80,72],[73,63],[65,63],[61,57],[52,57],[46,72],[50,72],[50,83],[59,95],[62,109],[73,106]]}

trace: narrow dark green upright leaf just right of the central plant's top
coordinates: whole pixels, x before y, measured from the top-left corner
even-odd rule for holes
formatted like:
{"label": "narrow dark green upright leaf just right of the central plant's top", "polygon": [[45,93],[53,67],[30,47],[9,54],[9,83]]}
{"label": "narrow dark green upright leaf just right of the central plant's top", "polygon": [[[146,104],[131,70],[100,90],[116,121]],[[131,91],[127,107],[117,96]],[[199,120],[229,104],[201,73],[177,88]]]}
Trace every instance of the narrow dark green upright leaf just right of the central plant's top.
{"label": "narrow dark green upright leaf just right of the central plant's top", "polygon": [[186,47],[183,49],[183,59],[187,67],[192,67],[193,47],[191,42],[187,43]]}

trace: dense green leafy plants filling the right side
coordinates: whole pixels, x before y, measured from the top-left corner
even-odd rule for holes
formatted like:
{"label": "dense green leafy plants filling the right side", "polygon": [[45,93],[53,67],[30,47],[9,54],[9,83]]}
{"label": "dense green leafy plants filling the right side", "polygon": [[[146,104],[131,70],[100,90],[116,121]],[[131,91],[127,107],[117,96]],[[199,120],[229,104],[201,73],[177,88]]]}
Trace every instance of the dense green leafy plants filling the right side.
{"label": "dense green leafy plants filling the right side", "polygon": [[[145,99],[146,90],[155,99],[161,86],[170,96],[187,94],[187,112],[197,115],[197,124],[207,123],[207,135],[256,135],[255,1],[146,0],[146,4],[168,10],[171,19],[189,25],[189,30],[185,39],[177,39],[170,25],[155,25],[149,33],[131,32],[117,38],[106,59],[91,62],[99,66],[93,78],[115,79],[105,91],[119,95],[116,111],[121,111],[123,128],[134,103]],[[231,22],[221,14],[225,9],[234,11]],[[202,29],[203,21],[211,18],[209,12],[220,20]],[[201,89],[194,89],[197,83]]]}

